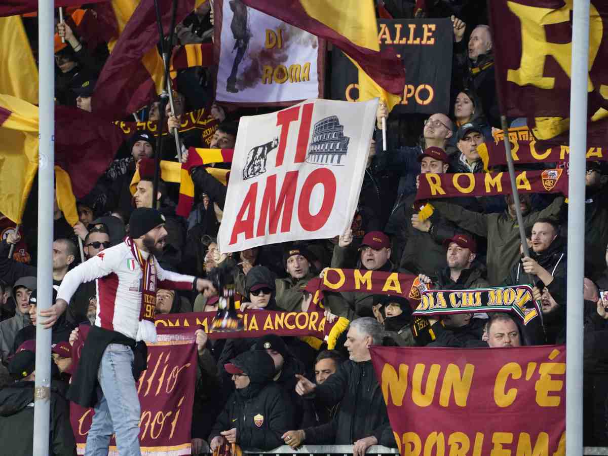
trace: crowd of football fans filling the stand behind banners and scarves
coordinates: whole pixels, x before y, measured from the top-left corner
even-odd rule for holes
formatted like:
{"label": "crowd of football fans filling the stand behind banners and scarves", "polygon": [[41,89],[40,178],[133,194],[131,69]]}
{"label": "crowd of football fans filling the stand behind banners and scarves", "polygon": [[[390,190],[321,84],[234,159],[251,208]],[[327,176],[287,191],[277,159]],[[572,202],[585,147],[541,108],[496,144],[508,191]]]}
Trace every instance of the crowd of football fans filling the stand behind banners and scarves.
{"label": "crowd of football fans filling the stand behind banners and scarves", "polygon": [[[306,311],[311,295],[304,290],[305,285],[326,267],[406,272],[420,275],[422,282],[432,282],[440,289],[531,283],[535,297],[542,302],[544,331],[538,325],[523,326],[511,314],[461,313],[429,319],[434,337],[422,340],[413,334],[407,299],[365,292],[326,293],[326,317],[350,320],[335,350],[313,348],[298,337],[209,340],[204,331],[198,331],[193,453],[213,451],[226,442],[236,442],[243,449],[354,444],[354,454],[358,455],[372,444],[395,447],[370,362],[370,345],[518,347],[565,342],[567,204],[562,196],[520,195],[529,257],[522,254],[511,196],[435,200],[435,212],[424,221],[413,209],[419,174],[483,172],[477,148],[500,126],[492,38],[489,27],[483,25],[487,23],[485,7],[472,0],[430,3],[434,5],[429,7],[429,17],[451,17],[454,24],[450,111],[432,114],[423,123],[420,116],[391,116],[384,105],[379,106],[359,205],[348,232],[333,239],[221,254],[216,235],[226,187],[205,167],[196,167],[191,173],[195,205],[187,219],[175,213],[176,184],[161,181],[158,187],[157,208],[166,218],[168,232],[156,246],[162,250],[159,261],[164,269],[198,277],[206,277],[220,265],[230,268],[237,291],[243,295],[243,312]],[[413,15],[413,2],[407,0],[386,0],[384,8],[395,18]],[[26,29],[35,44],[35,18],[26,20]],[[210,2],[205,2],[176,27],[174,44],[210,42],[212,29]],[[108,47],[103,42],[91,46],[66,23],[59,23],[57,30],[65,40],[65,44],[57,40],[55,47],[57,103],[94,113],[91,94]],[[207,107],[219,122],[210,145],[203,144],[200,130],[192,130],[181,137],[186,147],[233,148],[239,117],[270,111],[235,110],[213,102],[212,74],[206,67],[178,74],[176,111]],[[157,120],[159,106],[159,101],[150,100],[137,116]],[[382,151],[382,117],[388,118],[387,151]],[[525,125],[525,119],[510,120],[511,126]],[[170,128],[178,122],[179,116],[167,119]],[[142,175],[134,195],[129,185],[139,160],[156,154],[177,161],[173,138],[165,139],[160,151],[150,131],[134,134],[94,190],[77,201],[77,226],[69,226],[55,205],[55,285],[80,262],[77,237],[83,241],[85,257],[93,257],[122,242],[134,208],[152,206],[153,178]],[[607,182],[606,164],[587,162],[586,278],[581,290],[584,327],[579,329],[584,331],[585,349],[584,438],[586,445],[598,446],[608,443],[608,351],[604,349],[608,345],[608,294],[602,298],[602,291],[608,290]],[[35,208],[32,199],[35,191],[29,206]],[[0,440],[7,453],[12,449],[12,454],[21,454],[22,441],[31,437],[18,436],[27,432],[31,436],[33,421],[33,408],[28,406],[35,378],[36,211],[26,212],[21,234],[10,229],[10,221],[4,217],[0,225],[5,233],[0,244]],[[9,258],[13,244],[14,254]],[[157,314],[217,308],[218,297],[208,291],[196,294],[159,289],[156,295]],[[77,336],[74,329],[78,324],[95,324],[96,309],[95,282],[85,283],[52,330],[56,366],[52,451],[57,455],[75,452],[63,396],[71,364],[69,344]],[[247,407],[264,410],[263,426],[252,421],[237,432],[231,417],[242,415]]]}

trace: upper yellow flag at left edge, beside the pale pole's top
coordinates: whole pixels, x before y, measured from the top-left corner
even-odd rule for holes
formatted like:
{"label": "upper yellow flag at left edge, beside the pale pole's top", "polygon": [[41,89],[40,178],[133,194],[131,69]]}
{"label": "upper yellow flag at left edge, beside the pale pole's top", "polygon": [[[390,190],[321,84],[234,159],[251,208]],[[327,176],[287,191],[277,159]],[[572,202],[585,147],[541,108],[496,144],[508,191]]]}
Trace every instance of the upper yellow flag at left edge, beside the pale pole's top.
{"label": "upper yellow flag at left edge, beside the pale pole's top", "polygon": [[0,94],[38,105],[38,67],[21,16],[0,18]]}

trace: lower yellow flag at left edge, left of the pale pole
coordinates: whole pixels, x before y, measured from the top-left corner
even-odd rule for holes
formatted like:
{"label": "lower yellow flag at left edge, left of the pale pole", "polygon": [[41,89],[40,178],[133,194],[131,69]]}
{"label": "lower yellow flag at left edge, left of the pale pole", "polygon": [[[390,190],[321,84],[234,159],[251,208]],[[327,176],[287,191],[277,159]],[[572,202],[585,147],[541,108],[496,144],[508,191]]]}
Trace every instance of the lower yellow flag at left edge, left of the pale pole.
{"label": "lower yellow flag at left edge, left of the pale pole", "polygon": [[0,94],[0,212],[21,223],[38,170],[38,108]]}

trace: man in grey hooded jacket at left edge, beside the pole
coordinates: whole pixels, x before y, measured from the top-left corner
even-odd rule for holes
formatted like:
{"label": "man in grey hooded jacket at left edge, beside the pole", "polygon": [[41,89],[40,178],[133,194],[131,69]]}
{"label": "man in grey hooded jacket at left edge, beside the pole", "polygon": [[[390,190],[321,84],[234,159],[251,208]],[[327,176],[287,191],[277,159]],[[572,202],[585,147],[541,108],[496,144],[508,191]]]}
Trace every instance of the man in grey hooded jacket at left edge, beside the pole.
{"label": "man in grey hooded jacket at left edge, beside the pole", "polygon": [[15,316],[0,322],[0,348],[2,362],[15,351],[15,337],[23,328],[30,326],[30,295],[36,289],[36,277],[21,277],[13,285],[13,296],[17,304]]}

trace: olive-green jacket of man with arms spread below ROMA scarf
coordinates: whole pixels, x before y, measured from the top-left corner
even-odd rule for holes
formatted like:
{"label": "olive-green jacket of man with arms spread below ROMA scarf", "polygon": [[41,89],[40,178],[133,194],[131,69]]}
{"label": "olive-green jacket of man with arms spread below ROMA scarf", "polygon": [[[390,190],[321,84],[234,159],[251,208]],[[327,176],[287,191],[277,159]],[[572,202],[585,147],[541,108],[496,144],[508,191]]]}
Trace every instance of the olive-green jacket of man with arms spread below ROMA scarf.
{"label": "olive-green jacket of man with arms spread below ROMA scarf", "polygon": [[[488,282],[490,286],[500,285],[508,277],[511,266],[519,260],[519,226],[513,196],[505,196],[508,209],[503,213],[482,214],[463,209],[446,201],[434,200],[435,210],[461,229],[488,238]],[[530,212],[530,198],[519,195],[520,209],[525,226],[533,225],[538,219],[557,216],[562,209],[564,198],[558,196],[545,209]]]}

